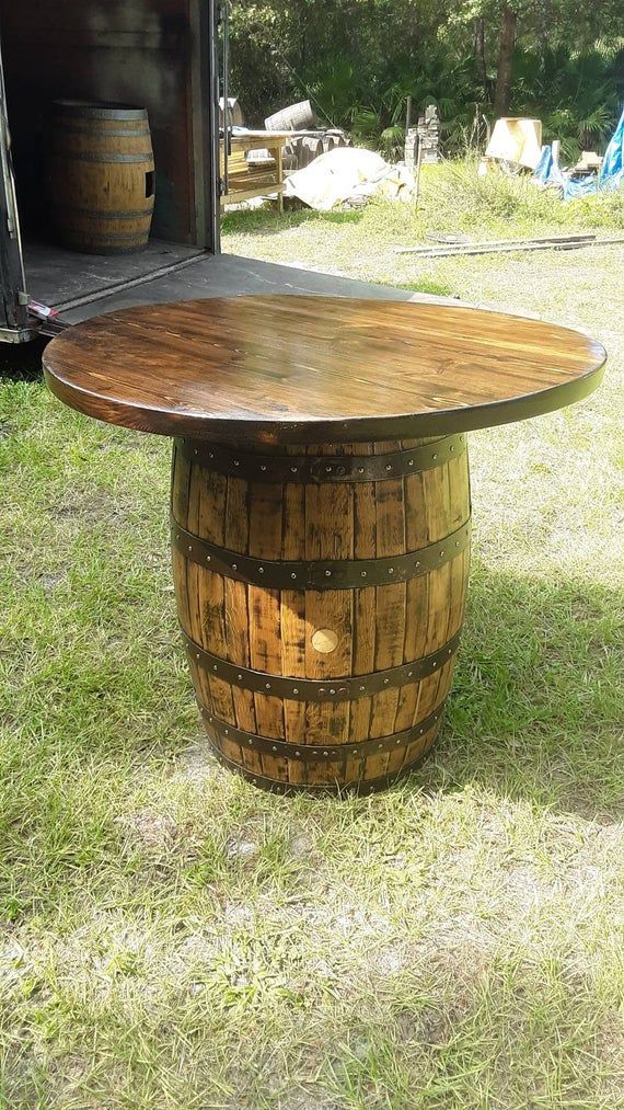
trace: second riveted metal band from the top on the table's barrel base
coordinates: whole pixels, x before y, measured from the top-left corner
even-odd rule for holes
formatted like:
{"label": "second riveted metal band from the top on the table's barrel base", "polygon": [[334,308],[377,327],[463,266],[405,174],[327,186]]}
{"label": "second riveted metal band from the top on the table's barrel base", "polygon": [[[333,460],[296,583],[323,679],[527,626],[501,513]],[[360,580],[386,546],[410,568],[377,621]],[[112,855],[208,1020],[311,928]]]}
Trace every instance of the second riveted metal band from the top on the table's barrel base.
{"label": "second riveted metal band from the top on the table's barrel base", "polygon": [[451,532],[439,543],[409,552],[407,555],[318,563],[238,555],[236,552],[211,544],[207,539],[200,539],[173,518],[171,536],[172,545],[193,563],[252,586],[265,586],[267,589],[358,589],[365,586],[408,582],[420,574],[428,574],[429,571],[444,566],[456,555],[461,555],[468,546],[470,518],[461,528]]}

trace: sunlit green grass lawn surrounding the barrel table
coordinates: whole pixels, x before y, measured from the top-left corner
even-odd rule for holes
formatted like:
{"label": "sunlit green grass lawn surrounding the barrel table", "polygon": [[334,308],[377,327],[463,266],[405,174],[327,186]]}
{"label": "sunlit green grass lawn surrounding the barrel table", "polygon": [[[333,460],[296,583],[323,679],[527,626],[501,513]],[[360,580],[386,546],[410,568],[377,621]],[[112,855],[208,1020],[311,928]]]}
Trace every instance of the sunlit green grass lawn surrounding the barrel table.
{"label": "sunlit green grass lawn surrounding the barrel table", "polygon": [[226,223],[226,250],[530,310],[611,356],[589,400],[472,434],[446,725],[366,800],[209,758],[167,442],[70,412],[37,352],[0,349],[0,1107],[624,1107],[622,248],[398,258],[513,216],[436,212],[431,189],[420,216]]}

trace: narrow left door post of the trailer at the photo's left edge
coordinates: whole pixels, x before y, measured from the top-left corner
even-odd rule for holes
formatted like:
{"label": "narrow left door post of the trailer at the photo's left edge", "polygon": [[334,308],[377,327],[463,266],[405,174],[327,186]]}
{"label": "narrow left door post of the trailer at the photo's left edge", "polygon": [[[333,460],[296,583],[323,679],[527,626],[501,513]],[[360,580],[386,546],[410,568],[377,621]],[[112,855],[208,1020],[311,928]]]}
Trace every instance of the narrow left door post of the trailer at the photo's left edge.
{"label": "narrow left door post of the trailer at the photo's left edge", "polygon": [[0,43],[0,340],[4,343],[20,343],[32,337],[33,333],[28,326],[28,296],[24,286]]}

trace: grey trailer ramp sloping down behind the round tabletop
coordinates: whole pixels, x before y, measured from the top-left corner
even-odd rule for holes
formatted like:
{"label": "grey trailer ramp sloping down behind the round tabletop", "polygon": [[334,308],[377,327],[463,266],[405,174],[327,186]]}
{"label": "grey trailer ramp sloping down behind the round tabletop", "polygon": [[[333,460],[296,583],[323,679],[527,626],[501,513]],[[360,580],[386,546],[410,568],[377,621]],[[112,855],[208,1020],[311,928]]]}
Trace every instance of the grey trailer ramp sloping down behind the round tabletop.
{"label": "grey trailer ramp sloping down behind the round tabletop", "polygon": [[437,301],[457,304],[446,297],[426,293],[372,285],[368,282],[336,278],[331,274],[295,266],[276,265],[233,254],[203,254],[167,274],[147,280],[130,289],[111,290],[89,304],[76,304],[61,311],[58,320],[76,324],[81,320],[130,309],[135,305],[163,304],[166,301],[193,301],[212,296],[239,296],[250,293],[317,294],[325,296],[370,297],[383,301]]}

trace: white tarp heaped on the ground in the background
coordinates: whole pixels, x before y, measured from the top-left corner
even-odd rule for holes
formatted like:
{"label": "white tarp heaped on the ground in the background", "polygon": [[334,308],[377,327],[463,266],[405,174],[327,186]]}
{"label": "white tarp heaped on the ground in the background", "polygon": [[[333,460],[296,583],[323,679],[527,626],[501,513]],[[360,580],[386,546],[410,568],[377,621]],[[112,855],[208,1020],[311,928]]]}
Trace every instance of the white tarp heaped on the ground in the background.
{"label": "white tarp heaped on the ground in the background", "polygon": [[291,173],[286,179],[284,195],[297,196],[319,212],[329,212],[346,201],[362,200],[375,193],[410,201],[415,188],[413,174],[407,167],[389,165],[372,150],[336,147]]}

